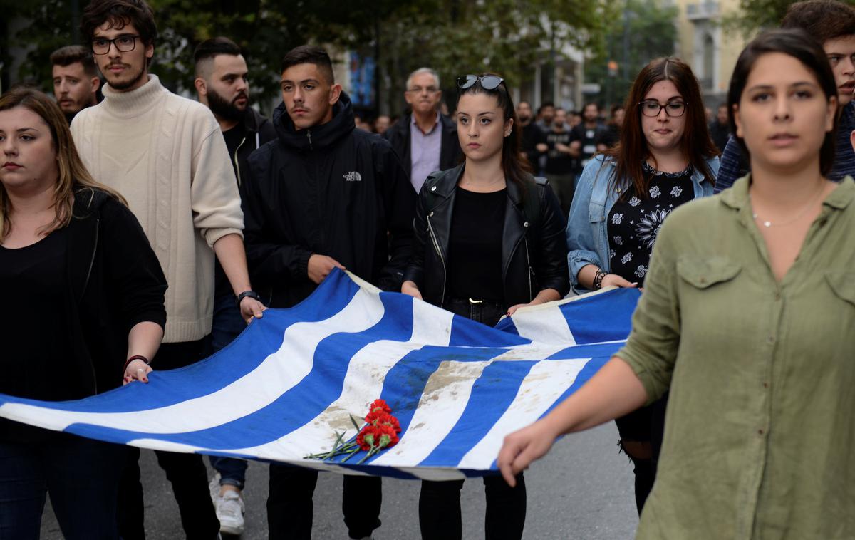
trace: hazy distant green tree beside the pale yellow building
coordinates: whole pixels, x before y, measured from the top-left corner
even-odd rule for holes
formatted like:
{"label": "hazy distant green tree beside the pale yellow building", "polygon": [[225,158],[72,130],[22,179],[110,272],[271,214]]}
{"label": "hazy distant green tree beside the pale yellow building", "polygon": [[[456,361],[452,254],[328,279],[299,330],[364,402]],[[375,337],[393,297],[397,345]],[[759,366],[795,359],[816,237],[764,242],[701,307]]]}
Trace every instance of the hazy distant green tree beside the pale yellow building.
{"label": "hazy distant green tree beside the pale yellow building", "polygon": [[[587,82],[600,85],[604,106],[622,103],[635,76],[647,62],[674,54],[679,9],[657,0],[626,0],[610,5],[605,45],[585,65]],[[608,68],[617,62],[616,71]]]}

